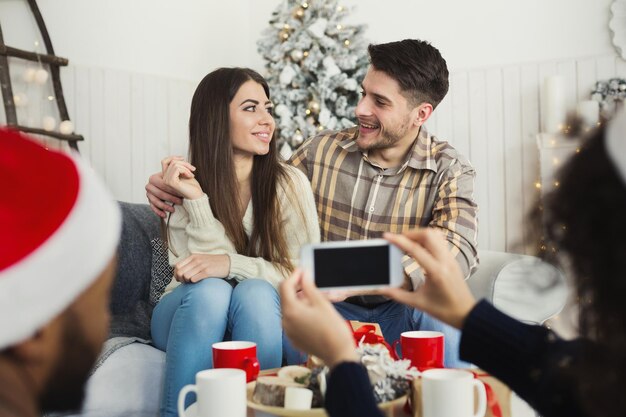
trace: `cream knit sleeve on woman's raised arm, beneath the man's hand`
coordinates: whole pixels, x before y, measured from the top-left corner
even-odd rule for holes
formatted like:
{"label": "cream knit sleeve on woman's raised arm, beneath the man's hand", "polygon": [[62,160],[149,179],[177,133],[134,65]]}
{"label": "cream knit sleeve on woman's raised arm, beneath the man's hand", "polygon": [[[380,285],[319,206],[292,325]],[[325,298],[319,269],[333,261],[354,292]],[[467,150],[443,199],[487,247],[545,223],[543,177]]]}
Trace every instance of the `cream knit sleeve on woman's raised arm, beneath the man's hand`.
{"label": "cream knit sleeve on woman's raised arm, beneath the man's hand", "polygon": [[169,221],[169,262],[176,265],[192,253],[220,255],[235,252],[222,223],[211,211],[209,198],[184,199]]}

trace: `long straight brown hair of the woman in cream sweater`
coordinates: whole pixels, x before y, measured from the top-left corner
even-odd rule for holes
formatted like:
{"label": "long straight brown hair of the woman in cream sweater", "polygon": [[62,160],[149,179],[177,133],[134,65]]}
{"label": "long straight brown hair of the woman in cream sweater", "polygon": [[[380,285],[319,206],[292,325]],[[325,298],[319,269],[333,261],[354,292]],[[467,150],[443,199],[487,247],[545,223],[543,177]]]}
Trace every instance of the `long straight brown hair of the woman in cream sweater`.
{"label": "long straight brown hair of the woman in cream sweater", "polygon": [[189,160],[202,190],[209,197],[213,215],[222,223],[237,253],[262,257],[290,271],[286,239],[281,225],[279,184],[288,182],[285,166],[278,159],[276,141],[269,153],[256,155],[252,168],[251,193],[253,230],[248,239],[239,200],[239,185],[233,162],[230,132],[230,102],[239,88],[252,80],[270,97],[265,79],[249,68],[219,68],[205,76],[196,88],[189,117]]}

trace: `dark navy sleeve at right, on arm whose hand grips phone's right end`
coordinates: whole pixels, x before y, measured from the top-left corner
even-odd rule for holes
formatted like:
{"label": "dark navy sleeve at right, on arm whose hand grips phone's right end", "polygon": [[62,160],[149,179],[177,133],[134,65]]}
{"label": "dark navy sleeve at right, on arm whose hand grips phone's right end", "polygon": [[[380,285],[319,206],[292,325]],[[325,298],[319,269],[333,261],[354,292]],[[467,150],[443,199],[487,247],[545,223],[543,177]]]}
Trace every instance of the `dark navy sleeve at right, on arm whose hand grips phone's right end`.
{"label": "dark navy sleeve at right, on arm whose hand grips phone's right end", "polygon": [[517,321],[482,300],[465,319],[460,355],[507,384],[542,416],[582,416],[571,373],[582,343]]}

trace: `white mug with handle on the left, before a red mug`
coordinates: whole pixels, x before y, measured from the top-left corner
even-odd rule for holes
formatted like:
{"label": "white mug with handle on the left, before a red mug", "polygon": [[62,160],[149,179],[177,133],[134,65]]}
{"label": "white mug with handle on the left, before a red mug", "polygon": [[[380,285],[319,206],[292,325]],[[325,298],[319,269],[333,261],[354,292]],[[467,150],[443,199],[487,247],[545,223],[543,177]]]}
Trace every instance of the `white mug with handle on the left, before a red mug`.
{"label": "white mug with handle on the left, before a red mug", "polygon": [[246,417],[246,372],[241,369],[198,372],[196,384],[185,385],[178,394],[180,417],[186,417],[185,398],[190,392],[197,397],[196,415],[190,417]]}

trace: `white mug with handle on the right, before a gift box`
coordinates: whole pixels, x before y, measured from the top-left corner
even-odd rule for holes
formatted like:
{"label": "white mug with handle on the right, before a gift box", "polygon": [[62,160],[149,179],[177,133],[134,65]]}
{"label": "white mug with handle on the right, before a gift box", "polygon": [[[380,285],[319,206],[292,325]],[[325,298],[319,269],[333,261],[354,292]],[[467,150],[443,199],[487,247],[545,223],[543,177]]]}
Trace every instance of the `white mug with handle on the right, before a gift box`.
{"label": "white mug with handle on the right, before a gift box", "polygon": [[[478,391],[476,412],[474,389]],[[482,417],[486,411],[485,386],[472,373],[459,369],[422,372],[423,417]]]}

